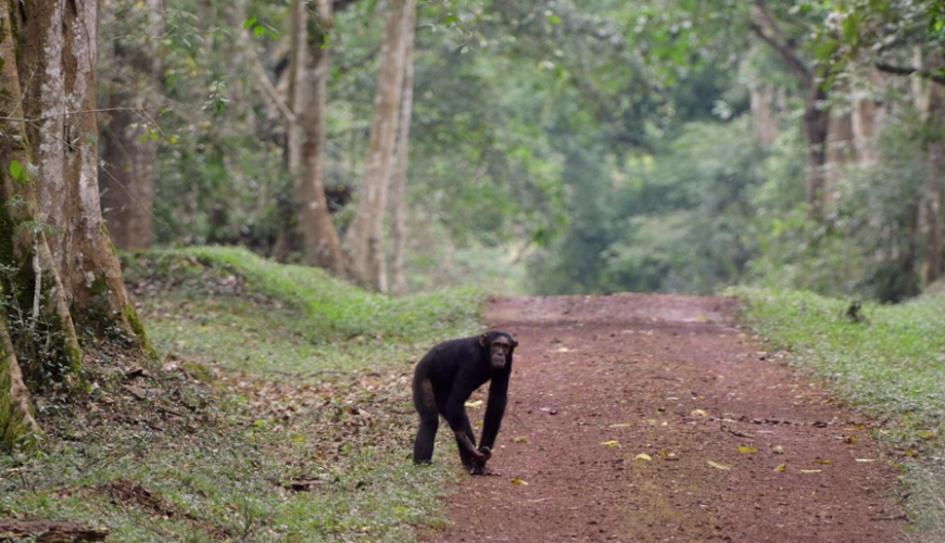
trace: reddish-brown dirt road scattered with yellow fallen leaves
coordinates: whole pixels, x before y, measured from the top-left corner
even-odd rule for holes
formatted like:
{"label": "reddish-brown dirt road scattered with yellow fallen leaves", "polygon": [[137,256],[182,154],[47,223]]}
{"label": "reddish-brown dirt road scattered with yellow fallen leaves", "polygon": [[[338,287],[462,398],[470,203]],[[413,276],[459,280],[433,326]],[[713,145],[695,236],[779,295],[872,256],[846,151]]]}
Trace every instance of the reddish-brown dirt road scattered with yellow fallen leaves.
{"label": "reddish-brown dirt road scattered with yellow fallen leaves", "polygon": [[[735,308],[639,294],[490,301],[490,326],[519,341],[489,463],[502,475],[465,480],[448,498],[453,527],[424,541],[900,539],[896,472],[868,421],[734,327]],[[452,443],[437,451],[457,462]]]}

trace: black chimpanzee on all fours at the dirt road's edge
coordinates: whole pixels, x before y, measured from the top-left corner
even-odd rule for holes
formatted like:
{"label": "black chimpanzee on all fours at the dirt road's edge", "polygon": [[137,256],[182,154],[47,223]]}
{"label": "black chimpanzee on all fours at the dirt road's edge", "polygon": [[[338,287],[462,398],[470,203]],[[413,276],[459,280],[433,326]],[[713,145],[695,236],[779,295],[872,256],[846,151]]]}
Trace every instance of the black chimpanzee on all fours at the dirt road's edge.
{"label": "black chimpanzee on all fours at the dirt road's edge", "polygon": [[[499,435],[512,374],[512,353],[518,342],[512,336],[491,331],[482,336],[444,341],[430,350],[414,372],[414,407],[420,415],[420,429],[414,442],[414,463],[428,464],[433,457],[433,440],[440,415],[456,434],[459,459],[472,475],[499,475],[486,467]],[[476,435],[466,415],[466,401],[486,381],[489,403],[482,426],[482,440]]]}

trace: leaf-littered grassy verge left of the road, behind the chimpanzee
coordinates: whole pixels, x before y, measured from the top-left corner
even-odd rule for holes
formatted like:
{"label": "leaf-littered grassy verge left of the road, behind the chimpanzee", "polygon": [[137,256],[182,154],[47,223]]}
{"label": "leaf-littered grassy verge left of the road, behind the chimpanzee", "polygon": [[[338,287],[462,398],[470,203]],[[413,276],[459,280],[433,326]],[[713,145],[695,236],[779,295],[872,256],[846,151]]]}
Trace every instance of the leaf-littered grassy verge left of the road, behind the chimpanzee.
{"label": "leaf-littered grassy verge left of the road, behind the chimpanzee", "polygon": [[415,540],[458,469],[408,462],[412,364],[475,333],[482,295],[373,295],[319,270],[192,249],[125,262],[160,363],[85,345],[79,396],[47,391],[39,454],[0,455],[0,517],[110,541]]}

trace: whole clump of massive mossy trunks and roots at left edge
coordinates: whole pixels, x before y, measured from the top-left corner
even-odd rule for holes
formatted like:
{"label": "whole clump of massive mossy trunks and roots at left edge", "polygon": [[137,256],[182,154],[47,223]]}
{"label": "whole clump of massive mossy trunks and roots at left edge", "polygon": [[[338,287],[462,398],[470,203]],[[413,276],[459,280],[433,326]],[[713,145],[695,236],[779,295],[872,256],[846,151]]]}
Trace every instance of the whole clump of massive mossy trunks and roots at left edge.
{"label": "whole clump of massive mossy trunks and roots at left edge", "polygon": [[99,206],[97,3],[3,0],[0,10],[0,446],[9,447],[40,434],[32,388],[81,382],[76,323],[150,346]]}

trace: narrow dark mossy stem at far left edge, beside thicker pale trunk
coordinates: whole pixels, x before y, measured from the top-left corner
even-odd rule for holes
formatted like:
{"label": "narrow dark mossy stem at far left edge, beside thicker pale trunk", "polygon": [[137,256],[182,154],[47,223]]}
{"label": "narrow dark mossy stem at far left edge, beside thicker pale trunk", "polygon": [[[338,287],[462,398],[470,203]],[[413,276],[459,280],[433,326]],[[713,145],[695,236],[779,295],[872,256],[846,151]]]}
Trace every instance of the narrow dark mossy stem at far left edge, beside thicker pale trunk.
{"label": "narrow dark mossy stem at far left edge, beside thicker pale trunk", "polygon": [[[0,8],[0,116],[5,137],[0,138],[0,447],[32,446],[41,429],[33,416],[26,382],[40,380],[43,370],[65,367],[78,375],[81,353],[66,305],[65,291],[49,250],[46,226],[39,218],[36,181],[39,168],[30,147],[23,104],[36,109],[37,97],[24,96],[22,78],[32,78],[34,66],[23,68],[25,51],[41,48],[42,34],[27,26],[22,4],[4,1]],[[42,27],[40,27],[42,28]],[[28,80],[28,79],[27,79]],[[34,87],[35,88],[35,87]],[[33,127],[35,132],[35,125]],[[14,341],[13,338],[16,338]],[[26,378],[18,362],[28,364]]]}

